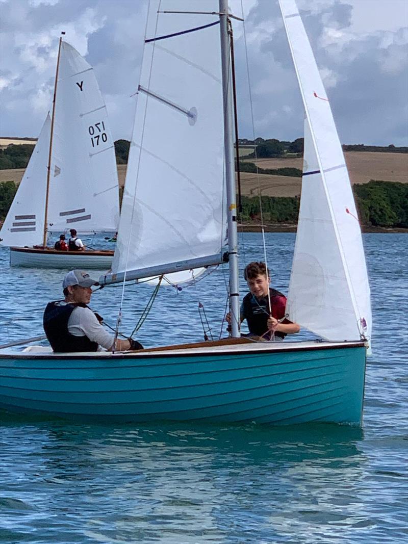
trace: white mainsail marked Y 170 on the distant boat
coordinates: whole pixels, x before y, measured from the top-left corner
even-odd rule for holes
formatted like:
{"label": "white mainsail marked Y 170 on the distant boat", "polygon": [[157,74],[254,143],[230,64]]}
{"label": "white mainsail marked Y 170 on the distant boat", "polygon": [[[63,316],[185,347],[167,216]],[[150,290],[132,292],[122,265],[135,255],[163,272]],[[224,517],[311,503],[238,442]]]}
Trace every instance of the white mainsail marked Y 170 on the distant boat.
{"label": "white mainsail marked Y 170 on the distant boat", "polygon": [[92,67],[61,43],[48,231],[116,231],[119,188],[106,106]]}

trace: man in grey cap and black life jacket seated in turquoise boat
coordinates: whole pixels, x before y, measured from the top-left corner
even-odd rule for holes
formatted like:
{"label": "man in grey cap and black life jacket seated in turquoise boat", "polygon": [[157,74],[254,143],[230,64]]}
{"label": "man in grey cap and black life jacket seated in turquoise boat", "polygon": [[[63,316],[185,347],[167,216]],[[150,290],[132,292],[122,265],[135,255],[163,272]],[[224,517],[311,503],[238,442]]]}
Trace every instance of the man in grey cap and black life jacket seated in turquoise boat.
{"label": "man in grey cap and black life jacket seated in turquoise boat", "polygon": [[143,349],[139,342],[116,339],[101,325],[102,318],[88,304],[94,285],[84,270],[71,270],[64,277],[64,300],[48,302],[44,312],[44,330],[54,351],[125,351]]}

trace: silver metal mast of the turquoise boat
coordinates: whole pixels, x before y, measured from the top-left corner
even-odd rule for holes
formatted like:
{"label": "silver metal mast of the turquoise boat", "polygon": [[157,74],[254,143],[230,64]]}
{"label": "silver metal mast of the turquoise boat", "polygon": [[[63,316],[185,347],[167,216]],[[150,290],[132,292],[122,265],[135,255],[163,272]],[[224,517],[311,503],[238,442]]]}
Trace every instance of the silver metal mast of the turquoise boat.
{"label": "silver metal mast of the turquoise boat", "polygon": [[239,282],[238,282],[238,236],[235,168],[233,151],[232,85],[230,62],[230,39],[228,36],[228,0],[219,0],[222,102],[224,107],[224,147],[228,214],[228,255],[230,257],[230,313],[231,335],[239,333]]}

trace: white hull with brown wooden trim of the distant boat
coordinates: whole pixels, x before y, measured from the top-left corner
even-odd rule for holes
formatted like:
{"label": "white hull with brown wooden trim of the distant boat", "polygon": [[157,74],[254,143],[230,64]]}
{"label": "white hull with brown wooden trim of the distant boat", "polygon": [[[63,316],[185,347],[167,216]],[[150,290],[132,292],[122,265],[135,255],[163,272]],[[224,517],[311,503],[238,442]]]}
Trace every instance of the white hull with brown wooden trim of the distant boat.
{"label": "white hull with brown wooden trim of the distant boat", "polygon": [[10,248],[10,266],[109,270],[113,250],[57,251],[53,248]]}

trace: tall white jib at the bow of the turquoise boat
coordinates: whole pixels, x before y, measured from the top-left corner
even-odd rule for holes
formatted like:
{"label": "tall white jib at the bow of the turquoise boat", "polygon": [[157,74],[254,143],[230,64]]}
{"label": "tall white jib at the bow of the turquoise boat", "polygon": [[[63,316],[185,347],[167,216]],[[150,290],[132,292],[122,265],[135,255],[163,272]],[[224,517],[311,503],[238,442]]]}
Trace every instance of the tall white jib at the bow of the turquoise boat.
{"label": "tall white jib at the bow of the turquoise boat", "polygon": [[360,224],[329,101],[294,0],[280,0],[305,106],[304,171],[288,313],[329,340],[370,338]]}

